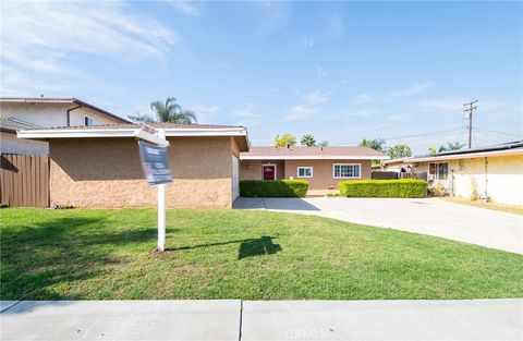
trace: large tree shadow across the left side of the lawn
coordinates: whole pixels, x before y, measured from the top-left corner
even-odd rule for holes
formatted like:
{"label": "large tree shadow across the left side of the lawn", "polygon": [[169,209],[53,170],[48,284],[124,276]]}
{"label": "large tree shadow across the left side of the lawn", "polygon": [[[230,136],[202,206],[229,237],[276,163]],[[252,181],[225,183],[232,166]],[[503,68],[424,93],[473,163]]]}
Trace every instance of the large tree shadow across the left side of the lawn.
{"label": "large tree shadow across the left side of the lawn", "polygon": [[[2,300],[80,300],[52,287],[98,277],[122,260],[115,247],[155,241],[156,229],[114,231],[102,218],[69,217],[5,229],[1,235]],[[147,248],[147,246],[145,246]]]}

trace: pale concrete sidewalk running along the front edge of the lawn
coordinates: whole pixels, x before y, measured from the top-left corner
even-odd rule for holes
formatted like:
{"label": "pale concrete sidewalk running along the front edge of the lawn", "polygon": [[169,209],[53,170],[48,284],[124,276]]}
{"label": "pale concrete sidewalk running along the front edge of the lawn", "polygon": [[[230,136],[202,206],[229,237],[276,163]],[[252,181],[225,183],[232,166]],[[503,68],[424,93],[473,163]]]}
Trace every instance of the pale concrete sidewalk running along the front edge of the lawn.
{"label": "pale concrete sidewalk running along the front edge of the lawn", "polygon": [[522,340],[523,300],[2,302],[1,340]]}

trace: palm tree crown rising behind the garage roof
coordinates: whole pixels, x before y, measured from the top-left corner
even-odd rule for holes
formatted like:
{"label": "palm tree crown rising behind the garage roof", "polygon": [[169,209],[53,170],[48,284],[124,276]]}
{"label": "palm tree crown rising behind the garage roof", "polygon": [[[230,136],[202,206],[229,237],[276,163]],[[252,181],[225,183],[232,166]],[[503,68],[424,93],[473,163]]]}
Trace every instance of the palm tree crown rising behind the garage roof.
{"label": "palm tree crown rising behind the garage roof", "polygon": [[174,97],[168,97],[165,102],[155,100],[150,103],[154,117],[137,113],[129,118],[137,123],[172,122],[180,124],[196,123],[196,114],[191,110],[183,110]]}

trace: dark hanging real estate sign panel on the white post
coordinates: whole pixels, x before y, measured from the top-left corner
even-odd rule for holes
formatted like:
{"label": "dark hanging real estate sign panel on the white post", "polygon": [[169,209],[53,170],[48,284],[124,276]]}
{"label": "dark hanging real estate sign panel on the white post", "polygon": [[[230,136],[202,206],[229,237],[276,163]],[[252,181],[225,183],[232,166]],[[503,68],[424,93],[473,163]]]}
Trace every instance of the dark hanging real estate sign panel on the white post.
{"label": "dark hanging real estate sign panel on the white post", "polygon": [[145,178],[149,185],[172,182],[171,169],[167,161],[167,148],[138,142],[139,157]]}

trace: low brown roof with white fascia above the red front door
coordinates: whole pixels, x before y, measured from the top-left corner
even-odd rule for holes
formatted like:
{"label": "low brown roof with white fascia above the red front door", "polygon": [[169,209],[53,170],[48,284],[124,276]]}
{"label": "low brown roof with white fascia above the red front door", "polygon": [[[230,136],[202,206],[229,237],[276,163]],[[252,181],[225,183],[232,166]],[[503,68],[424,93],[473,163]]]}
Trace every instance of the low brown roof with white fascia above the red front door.
{"label": "low brown roof with white fascia above the red front door", "polygon": [[241,153],[242,160],[384,160],[388,159],[385,154],[367,147],[333,146],[333,147],[306,147],[292,146],[269,147],[253,146],[248,153]]}

